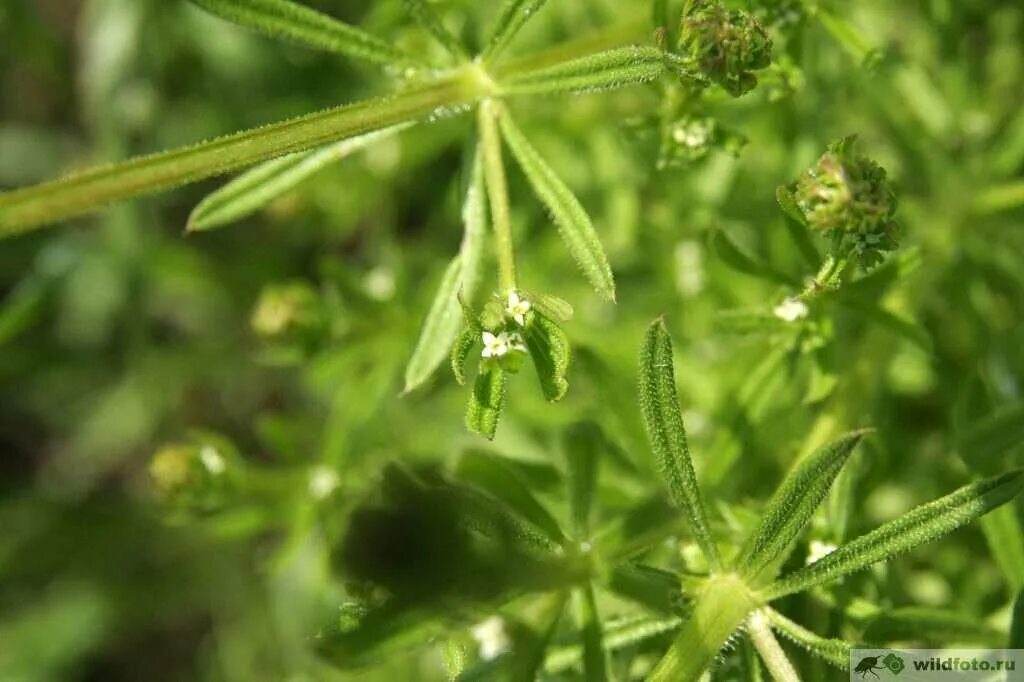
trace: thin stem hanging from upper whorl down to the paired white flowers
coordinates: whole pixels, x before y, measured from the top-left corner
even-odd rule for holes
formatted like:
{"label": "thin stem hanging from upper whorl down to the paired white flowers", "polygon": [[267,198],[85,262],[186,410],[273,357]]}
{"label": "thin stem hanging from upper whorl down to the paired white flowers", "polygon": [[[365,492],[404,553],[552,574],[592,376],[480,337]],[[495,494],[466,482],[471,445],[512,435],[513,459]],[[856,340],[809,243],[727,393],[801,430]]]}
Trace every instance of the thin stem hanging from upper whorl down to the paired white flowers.
{"label": "thin stem hanging from upper whorl down to the paired white flowers", "polygon": [[516,290],[515,246],[512,241],[512,219],[509,210],[508,180],[502,158],[502,138],[498,130],[501,103],[484,99],[480,104],[478,121],[480,145],[483,148],[483,177],[490,201],[490,222],[495,226],[498,250],[498,271],[503,294]]}

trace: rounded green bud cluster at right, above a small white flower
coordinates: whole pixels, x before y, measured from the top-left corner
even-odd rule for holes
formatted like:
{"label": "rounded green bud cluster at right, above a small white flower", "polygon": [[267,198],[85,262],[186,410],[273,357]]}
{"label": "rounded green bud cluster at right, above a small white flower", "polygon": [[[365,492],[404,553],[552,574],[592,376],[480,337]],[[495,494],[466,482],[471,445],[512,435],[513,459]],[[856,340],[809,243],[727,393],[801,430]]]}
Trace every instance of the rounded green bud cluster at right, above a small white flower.
{"label": "rounded green bud cluster at right, above a small white flower", "polygon": [[797,180],[793,197],[811,229],[844,236],[864,266],[898,246],[896,195],[879,164],[855,154],[856,135],[834,142]]}

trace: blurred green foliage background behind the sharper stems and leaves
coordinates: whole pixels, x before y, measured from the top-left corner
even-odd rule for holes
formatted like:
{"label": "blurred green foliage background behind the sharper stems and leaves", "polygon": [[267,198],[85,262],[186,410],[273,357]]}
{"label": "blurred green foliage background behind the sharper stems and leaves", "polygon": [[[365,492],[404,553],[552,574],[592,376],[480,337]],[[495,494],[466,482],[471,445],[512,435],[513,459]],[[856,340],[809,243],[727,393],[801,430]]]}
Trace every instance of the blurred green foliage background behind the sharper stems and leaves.
{"label": "blurred green foliage background behind the sharper stems and leaves", "polygon": [[[307,4],[432,49],[400,2]],[[512,171],[523,281],[574,305],[577,355],[562,403],[544,402],[529,371],[513,382],[494,443],[465,432],[466,389],[444,370],[399,397],[461,237],[471,117],[402,132],[219,231],[182,232],[215,180],[0,245],[0,679],[443,679],[436,647],[362,672],[315,655],[346,598],[329,555],[348,510],[387,462],[444,466],[487,449],[551,466],[579,420],[622,451],[602,474],[603,517],[656,492],[635,375],[662,313],[723,524],[742,525],[798,454],[849,428],[878,432],[856,461],[854,512],[824,519],[823,542],[1020,465],[1020,447],[969,445],[1024,399],[1024,7],[820,3],[842,19],[829,24],[798,2],[752,4],[777,66],[750,95],[713,92],[698,112],[746,140],[738,155],[659,145],[674,123],[663,85],[512,103],[594,218],[618,302],[589,290]],[[463,35],[495,12],[436,6]],[[513,49],[648,15],[647,3],[550,2]],[[6,0],[0,188],[387,87],[372,68],[184,1]],[[903,246],[808,318],[773,319],[792,288],[737,271],[715,236],[808,274],[775,187],[850,133],[895,182]],[[168,505],[150,465],[169,443],[215,447],[247,494]],[[559,503],[558,489],[541,495]],[[1011,536],[1015,504],[990,522]],[[993,552],[975,524],[856,589],[1005,626],[1024,585],[1006,555],[1015,542]],[[791,610],[821,634],[845,627],[811,601]]]}

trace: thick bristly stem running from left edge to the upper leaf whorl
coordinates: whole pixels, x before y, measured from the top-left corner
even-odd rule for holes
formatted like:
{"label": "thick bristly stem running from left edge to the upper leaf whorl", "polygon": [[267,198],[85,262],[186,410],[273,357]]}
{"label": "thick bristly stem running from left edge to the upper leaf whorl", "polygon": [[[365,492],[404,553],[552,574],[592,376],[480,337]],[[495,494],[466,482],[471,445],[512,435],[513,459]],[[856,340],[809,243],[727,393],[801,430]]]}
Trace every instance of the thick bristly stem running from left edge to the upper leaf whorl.
{"label": "thick bristly stem running from left edge to the upper leaf whorl", "polygon": [[86,170],[0,194],[0,238],[330,142],[471,103],[479,84],[464,73],[384,97],[218,137],[193,146]]}

